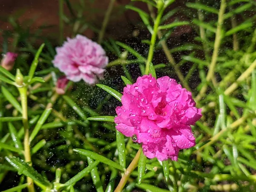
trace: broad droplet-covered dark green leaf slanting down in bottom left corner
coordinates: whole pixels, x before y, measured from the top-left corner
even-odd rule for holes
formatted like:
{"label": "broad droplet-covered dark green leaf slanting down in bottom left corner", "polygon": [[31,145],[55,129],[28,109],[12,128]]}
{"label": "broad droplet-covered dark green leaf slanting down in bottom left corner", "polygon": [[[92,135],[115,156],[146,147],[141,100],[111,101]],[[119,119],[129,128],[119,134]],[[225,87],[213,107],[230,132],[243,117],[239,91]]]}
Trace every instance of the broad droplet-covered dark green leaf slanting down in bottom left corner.
{"label": "broad droplet-covered dark green leaf slanting down in bottom left corner", "polygon": [[52,186],[52,183],[50,183],[45,177],[35,171],[35,169],[33,169],[32,166],[29,166],[28,163],[25,163],[24,160],[21,160],[18,157],[5,158],[17,170],[19,174],[26,175],[27,177],[32,178],[32,180],[35,180],[44,186]]}

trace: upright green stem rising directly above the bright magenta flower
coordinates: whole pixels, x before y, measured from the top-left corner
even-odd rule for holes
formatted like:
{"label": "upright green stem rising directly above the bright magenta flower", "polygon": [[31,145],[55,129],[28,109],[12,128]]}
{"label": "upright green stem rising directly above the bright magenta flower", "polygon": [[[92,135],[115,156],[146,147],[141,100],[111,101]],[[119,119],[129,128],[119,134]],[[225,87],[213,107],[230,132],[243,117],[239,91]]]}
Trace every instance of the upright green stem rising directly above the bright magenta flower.
{"label": "upright green stem rising directly above the bright magenta flower", "polygon": [[149,73],[149,64],[151,63],[154,55],[154,47],[157,39],[157,32],[158,32],[158,26],[160,25],[161,22],[161,17],[163,15],[164,9],[161,9],[160,12],[157,15],[156,20],[154,21],[154,29],[153,29],[153,34],[151,36],[151,41],[150,41],[150,47],[148,51],[148,59],[146,62],[146,68],[145,68],[145,75],[148,75]]}

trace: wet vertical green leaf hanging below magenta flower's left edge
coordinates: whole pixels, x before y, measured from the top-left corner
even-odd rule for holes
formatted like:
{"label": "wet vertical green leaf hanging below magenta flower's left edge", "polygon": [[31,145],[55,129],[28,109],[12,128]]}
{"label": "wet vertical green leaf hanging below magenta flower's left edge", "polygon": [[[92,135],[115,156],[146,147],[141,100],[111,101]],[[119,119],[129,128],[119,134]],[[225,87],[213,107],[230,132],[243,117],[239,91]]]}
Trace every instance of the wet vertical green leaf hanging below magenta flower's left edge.
{"label": "wet vertical green leaf hanging below magenta flower's left edge", "polygon": [[125,137],[116,129],[116,146],[118,151],[119,164],[126,167]]}

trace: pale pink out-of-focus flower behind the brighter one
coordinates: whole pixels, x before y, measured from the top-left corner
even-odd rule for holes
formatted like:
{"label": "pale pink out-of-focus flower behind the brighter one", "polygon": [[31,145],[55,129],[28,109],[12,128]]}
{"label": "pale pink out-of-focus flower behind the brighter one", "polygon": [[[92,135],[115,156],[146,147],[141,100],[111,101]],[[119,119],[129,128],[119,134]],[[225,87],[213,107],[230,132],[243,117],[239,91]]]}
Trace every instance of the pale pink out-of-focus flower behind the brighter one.
{"label": "pale pink out-of-focus flower behind the brighter one", "polygon": [[108,64],[104,49],[82,35],[67,38],[56,52],[53,65],[74,82],[83,79],[88,84],[96,83],[97,76],[103,77],[104,67]]}

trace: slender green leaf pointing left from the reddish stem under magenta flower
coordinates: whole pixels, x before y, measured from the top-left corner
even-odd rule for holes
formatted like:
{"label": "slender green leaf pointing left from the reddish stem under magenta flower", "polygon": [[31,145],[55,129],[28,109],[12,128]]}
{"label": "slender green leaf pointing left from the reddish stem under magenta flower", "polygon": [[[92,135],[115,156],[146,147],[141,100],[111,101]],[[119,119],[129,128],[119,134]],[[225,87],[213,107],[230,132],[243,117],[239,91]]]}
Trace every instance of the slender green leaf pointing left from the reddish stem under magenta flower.
{"label": "slender green leaf pointing left from the reddish stem under magenta flower", "polygon": [[119,170],[122,170],[122,171],[125,170],[125,168],[120,166],[118,163],[116,163],[116,162],[114,162],[112,160],[109,160],[108,158],[103,157],[102,155],[96,154],[96,153],[94,153],[92,151],[88,151],[88,150],[84,150],[84,149],[79,149],[79,148],[75,148],[75,149],[73,149],[73,151],[76,151],[77,153],[85,155],[87,157],[90,157],[90,158],[92,158],[94,160],[99,160],[100,162],[105,163],[105,164],[107,164],[109,166],[112,166],[112,167],[114,167],[116,169],[119,169]]}

